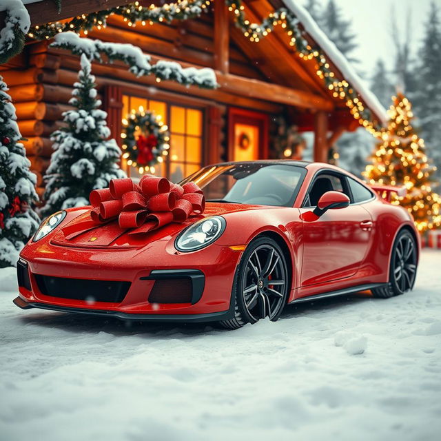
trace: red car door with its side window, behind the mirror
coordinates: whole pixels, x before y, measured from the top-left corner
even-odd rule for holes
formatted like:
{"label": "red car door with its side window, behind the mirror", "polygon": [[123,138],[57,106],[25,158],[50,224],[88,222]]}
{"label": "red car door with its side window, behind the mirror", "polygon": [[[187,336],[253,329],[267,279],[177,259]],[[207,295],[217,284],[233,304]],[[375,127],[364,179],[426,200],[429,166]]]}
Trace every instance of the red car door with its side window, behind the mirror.
{"label": "red car door with its side window, behind the mirror", "polygon": [[[300,286],[351,277],[367,254],[372,218],[363,203],[354,200],[349,177],[334,170],[319,172],[309,186],[300,211],[305,213],[314,209],[320,196],[331,190],[347,194],[351,204],[342,209],[329,209],[312,222],[303,222]],[[373,198],[373,194],[369,196],[369,199]]]}

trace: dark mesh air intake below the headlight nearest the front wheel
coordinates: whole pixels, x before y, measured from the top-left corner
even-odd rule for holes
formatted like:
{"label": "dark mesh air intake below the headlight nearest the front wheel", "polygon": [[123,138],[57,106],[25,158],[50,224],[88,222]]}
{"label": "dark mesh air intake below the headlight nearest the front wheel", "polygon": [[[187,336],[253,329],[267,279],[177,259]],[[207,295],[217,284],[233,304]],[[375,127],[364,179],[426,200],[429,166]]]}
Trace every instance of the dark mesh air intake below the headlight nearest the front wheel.
{"label": "dark mesh air intake below the headlight nearest the front wheel", "polygon": [[150,291],[150,303],[191,303],[192,302],[192,279],[174,278],[155,280]]}

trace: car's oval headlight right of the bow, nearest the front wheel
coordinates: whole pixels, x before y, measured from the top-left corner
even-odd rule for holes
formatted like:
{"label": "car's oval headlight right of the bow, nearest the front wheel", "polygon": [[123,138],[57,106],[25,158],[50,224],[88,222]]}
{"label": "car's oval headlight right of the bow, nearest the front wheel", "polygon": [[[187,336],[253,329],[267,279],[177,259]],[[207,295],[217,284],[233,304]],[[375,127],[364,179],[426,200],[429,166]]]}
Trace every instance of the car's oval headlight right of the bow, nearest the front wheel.
{"label": "car's oval headlight right of the bow, nearest the front wheel", "polygon": [[174,246],[182,252],[196,251],[213,243],[225,229],[225,219],[220,216],[212,216],[198,220],[179,234]]}

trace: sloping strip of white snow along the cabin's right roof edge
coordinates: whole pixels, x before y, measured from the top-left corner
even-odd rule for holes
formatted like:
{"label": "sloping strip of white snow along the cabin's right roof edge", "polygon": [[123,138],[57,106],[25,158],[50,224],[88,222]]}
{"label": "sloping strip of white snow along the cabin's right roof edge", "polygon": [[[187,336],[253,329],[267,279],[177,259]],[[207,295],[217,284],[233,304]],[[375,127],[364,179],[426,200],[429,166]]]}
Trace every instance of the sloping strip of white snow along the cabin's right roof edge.
{"label": "sloping strip of white snow along the cabin's right roof edge", "polygon": [[345,56],[338,50],[337,46],[329,40],[325,32],[323,32],[317,25],[316,21],[311,17],[309,12],[301,6],[296,0],[283,0],[285,6],[289,8],[296,17],[300,20],[306,32],[327,54],[329,59],[336,65],[336,67],[345,76],[345,80],[351,83],[353,88],[360,94],[365,105],[376,114],[381,123],[387,123],[387,114],[384,107],[381,105],[378,98],[369,90],[354,68],[351,66]]}

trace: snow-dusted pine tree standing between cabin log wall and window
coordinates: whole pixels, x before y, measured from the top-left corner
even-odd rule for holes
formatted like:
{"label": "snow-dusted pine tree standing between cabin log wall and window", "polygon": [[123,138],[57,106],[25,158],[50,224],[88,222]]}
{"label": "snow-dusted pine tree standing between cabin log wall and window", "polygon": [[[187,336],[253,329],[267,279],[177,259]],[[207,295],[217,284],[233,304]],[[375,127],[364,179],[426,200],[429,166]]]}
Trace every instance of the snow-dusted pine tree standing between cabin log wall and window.
{"label": "snow-dusted pine tree standing between cabin log wall and window", "polygon": [[59,209],[88,205],[92,189],[109,185],[113,178],[125,173],[117,164],[121,150],[110,136],[105,121],[107,114],[99,110],[95,77],[90,73],[90,61],[81,55],[79,81],[74,83],[70,104],[75,110],[63,113],[67,127],[51,136],[54,142],[41,213],[49,215]]}

